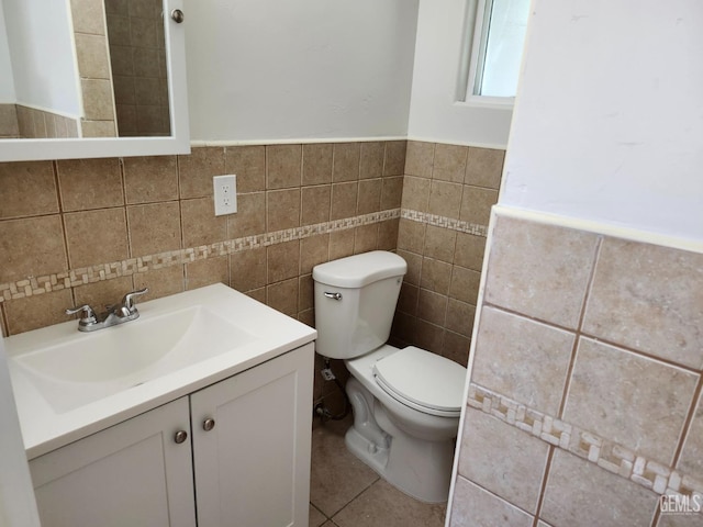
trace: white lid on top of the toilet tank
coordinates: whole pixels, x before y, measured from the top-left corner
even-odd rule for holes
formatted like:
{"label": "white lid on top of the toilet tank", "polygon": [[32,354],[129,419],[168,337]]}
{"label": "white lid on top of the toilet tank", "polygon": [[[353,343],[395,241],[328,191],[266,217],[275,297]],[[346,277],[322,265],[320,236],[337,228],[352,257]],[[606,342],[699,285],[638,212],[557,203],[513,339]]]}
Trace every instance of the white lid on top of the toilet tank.
{"label": "white lid on top of the toilet tank", "polygon": [[387,250],[372,250],[320,264],[312,270],[315,282],[338,288],[361,288],[390,277],[402,277],[405,260]]}

